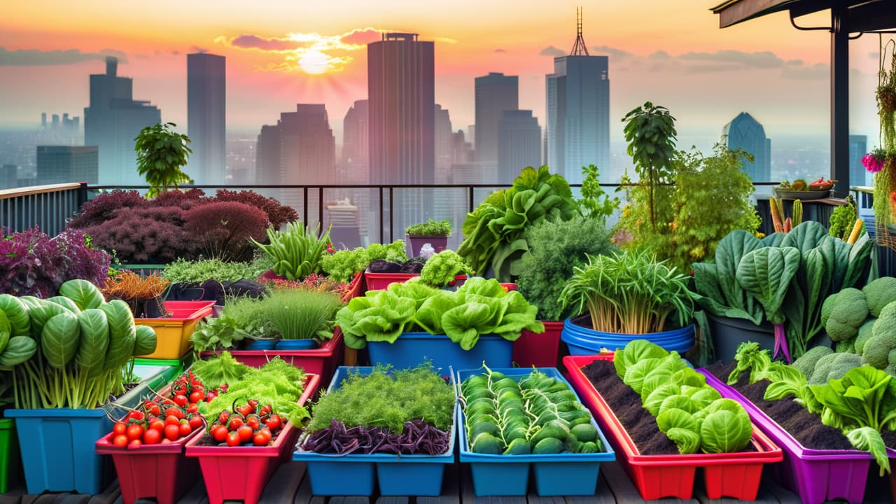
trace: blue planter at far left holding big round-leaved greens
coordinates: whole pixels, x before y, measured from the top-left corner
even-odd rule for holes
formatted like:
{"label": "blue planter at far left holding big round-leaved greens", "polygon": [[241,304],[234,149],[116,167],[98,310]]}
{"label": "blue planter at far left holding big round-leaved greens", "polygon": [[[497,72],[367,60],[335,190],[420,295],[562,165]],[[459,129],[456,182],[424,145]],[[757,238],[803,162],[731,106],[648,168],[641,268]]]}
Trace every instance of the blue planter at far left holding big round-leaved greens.
{"label": "blue planter at far left holding big round-leaved greens", "polygon": [[[135,407],[142,396],[150,394],[148,382],[158,379],[147,378],[119,397],[107,406],[109,413],[126,413],[115,404]],[[97,455],[95,448],[97,439],[112,431],[112,421],[101,408],[12,409],[4,414],[15,419],[28,493],[96,494],[103,490],[103,465],[108,456]]]}

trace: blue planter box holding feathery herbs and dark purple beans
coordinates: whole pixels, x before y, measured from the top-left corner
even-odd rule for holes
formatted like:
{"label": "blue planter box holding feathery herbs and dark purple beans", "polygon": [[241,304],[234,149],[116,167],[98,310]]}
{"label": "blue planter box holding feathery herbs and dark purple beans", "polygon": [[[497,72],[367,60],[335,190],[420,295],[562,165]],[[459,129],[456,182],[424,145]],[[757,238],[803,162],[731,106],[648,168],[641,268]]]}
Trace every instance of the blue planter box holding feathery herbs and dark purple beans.
{"label": "blue planter box holding feathery herbs and dark purple beans", "polygon": [[[373,368],[340,366],[328,390],[339,388],[349,370],[366,375]],[[457,413],[455,404],[455,419]],[[445,465],[454,463],[455,427],[456,422],[450,432],[451,446],[443,455],[321,455],[296,450],[292,459],[306,462],[314,495],[372,495],[375,475],[380,495],[437,496],[442,493]]]}

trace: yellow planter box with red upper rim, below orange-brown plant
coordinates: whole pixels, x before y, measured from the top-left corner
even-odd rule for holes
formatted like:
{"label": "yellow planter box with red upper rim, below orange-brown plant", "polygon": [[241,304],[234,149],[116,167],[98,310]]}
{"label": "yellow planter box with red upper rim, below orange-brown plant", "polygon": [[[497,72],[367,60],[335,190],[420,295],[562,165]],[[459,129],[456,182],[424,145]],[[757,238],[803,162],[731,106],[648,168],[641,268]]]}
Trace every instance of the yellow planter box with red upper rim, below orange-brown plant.
{"label": "yellow planter box with red upper rim, below orange-brown plant", "polygon": [[190,350],[190,336],[204,317],[211,317],[215,301],[165,301],[171,317],[135,318],[138,326],[156,330],[156,351],[138,355],[143,359],[180,359]]}

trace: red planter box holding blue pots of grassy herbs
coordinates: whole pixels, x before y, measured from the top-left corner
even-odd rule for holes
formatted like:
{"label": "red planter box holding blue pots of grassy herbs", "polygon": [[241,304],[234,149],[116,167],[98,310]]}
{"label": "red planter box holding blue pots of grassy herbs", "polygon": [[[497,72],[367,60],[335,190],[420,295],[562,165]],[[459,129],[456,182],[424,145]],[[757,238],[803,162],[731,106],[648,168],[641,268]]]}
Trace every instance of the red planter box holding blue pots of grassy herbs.
{"label": "red planter box holding blue pots of grassy herbs", "polygon": [[[332,338],[310,350],[228,350],[228,352],[237,361],[253,368],[261,368],[274,357],[280,356],[283,361],[305,369],[308,374],[319,375],[321,379],[330,379],[336,368],[342,364],[345,345],[342,344],[342,329],[336,326]],[[202,352],[202,358],[215,353]]]}

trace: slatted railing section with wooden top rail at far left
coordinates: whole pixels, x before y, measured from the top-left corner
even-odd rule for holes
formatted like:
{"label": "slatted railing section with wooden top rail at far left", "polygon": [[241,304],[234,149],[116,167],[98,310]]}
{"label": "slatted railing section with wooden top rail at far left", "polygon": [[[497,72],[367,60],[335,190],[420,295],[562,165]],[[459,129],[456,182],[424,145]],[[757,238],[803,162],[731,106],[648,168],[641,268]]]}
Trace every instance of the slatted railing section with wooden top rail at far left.
{"label": "slatted railing section with wooden top rail at far left", "polygon": [[21,231],[38,226],[56,236],[87,194],[85,182],[0,190],[0,227]]}

